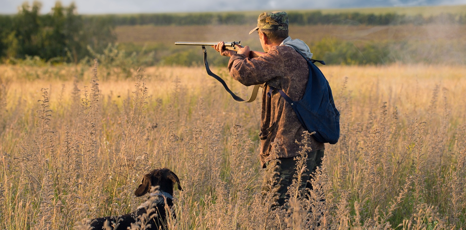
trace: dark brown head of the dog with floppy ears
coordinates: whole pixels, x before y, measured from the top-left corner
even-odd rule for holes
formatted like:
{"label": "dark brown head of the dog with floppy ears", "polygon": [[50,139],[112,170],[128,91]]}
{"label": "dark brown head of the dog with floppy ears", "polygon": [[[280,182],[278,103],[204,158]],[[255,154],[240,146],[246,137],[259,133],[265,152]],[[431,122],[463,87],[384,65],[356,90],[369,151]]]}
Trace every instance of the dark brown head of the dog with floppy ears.
{"label": "dark brown head of the dog with floppy ears", "polygon": [[183,191],[179,184],[178,176],[171,172],[168,168],[157,168],[152,170],[149,174],[145,174],[143,181],[134,191],[134,195],[141,196],[149,192],[151,187],[159,186],[160,190],[163,190],[170,195],[173,195],[173,185],[178,184],[178,189]]}

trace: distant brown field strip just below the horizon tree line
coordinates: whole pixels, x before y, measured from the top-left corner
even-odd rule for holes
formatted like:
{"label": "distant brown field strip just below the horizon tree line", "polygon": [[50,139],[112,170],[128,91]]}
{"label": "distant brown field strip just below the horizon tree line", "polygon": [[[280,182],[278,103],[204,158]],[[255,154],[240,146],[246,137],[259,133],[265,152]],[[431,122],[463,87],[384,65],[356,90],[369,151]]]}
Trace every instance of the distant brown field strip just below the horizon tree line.
{"label": "distant brown field strip just below the horizon tree line", "polygon": [[[173,45],[180,41],[243,41],[260,46],[257,34],[249,35],[253,26],[119,26],[116,28],[117,42],[136,44],[163,43]],[[364,26],[364,25],[315,25],[291,26],[289,35],[308,42],[324,38],[345,41],[422,41],[422,40],[462,40],[466,34],[464,25],[403,25],[403,26]],[[256,41],[257,40],[257,41]],[[246,43],[247,42],[247,43]],[[256,44],[257,43],[257,44]]]}

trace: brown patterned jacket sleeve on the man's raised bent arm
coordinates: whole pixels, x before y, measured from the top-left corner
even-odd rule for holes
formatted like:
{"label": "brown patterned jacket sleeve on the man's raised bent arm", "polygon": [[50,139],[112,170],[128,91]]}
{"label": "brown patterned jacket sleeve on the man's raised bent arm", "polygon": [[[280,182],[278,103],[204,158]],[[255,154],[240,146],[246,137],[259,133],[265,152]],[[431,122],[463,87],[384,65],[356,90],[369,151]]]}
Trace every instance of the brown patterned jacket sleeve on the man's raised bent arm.
{"label": "brown patterned jacket sleeve on the man's raised bent arm", "polygon": [[233,79],[246,86],[264,84],[284,75],[283,59],[275,47],[264,56],[256,58],[234,54],[228,62],[228,70]]}

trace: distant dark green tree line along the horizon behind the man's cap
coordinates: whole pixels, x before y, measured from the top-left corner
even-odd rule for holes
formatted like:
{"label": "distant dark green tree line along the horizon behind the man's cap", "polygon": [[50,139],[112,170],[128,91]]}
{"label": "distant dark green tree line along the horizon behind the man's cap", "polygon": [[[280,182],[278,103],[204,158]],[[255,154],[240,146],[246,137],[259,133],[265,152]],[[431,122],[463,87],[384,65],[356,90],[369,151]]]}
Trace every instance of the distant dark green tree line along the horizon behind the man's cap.
{"label": "distant dark green tree line along the horizon behind the man's cap", "polygon": [[[111,14],[93,15],[89,18],[105,18],[115,26],[123,25],[244,25],[255,24],[257,15],[242,13],[192,13],[192,14]],[[466,14],[441,13],[424,17],[396,13],[363,14],[358,12],[323,14],[321,11],[288,12],[291,24],[298,25],[327,25],[327,24],[356,24],[356,25],[403,25],[450,23],[466,24]]]}

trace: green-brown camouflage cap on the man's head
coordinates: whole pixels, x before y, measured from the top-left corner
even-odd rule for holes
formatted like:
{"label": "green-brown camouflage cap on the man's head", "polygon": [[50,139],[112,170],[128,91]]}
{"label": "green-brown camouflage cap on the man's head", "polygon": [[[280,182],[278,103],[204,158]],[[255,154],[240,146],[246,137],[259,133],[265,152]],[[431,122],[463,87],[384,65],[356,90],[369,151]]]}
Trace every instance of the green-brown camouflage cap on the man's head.
{"label": "green-brown camouflage cap on the man's head", "polygon": [[257,27],[249,34],[257,29],[288,30],[288,14],[283,11],[264,12],[257,18]]}

